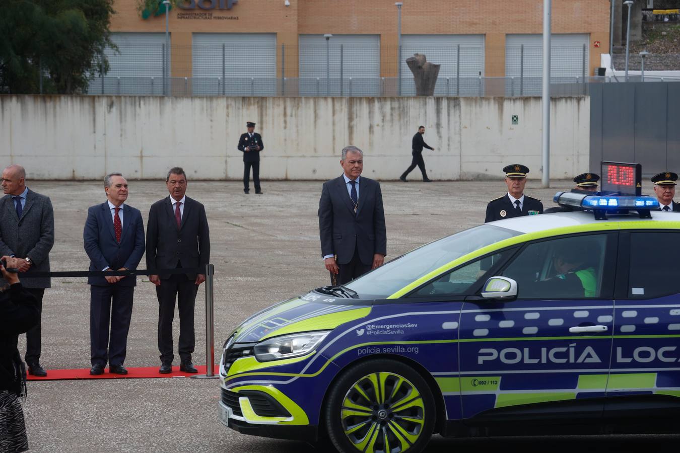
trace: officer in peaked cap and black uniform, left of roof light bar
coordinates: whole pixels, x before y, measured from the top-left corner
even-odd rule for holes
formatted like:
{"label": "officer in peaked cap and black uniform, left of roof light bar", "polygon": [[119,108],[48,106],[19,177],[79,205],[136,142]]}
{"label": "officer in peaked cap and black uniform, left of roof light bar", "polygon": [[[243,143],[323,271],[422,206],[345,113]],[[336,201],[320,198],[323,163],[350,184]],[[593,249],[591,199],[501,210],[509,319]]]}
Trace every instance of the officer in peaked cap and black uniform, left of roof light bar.
{"label": "officer in peaked cap and black uniform, left of roof light bar", "polygon": [[522,164],[511,164],[503,167],[508,193],[486,205],[484,223],[494,220],[509,219],[522,215],[543,214],[541,200],[524,195],[526,174],[529,168]]}

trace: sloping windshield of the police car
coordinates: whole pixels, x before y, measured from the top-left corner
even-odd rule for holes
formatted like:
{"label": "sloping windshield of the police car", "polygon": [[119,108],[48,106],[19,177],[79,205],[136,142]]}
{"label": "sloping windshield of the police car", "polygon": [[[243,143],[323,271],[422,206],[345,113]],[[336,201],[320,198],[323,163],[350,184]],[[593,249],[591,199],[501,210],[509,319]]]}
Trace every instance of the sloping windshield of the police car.
{"label": "sloping windshield of the police car", "polygon": [[479,225],[405,253],[345,287],[362,299],[384,299],[454,259],[520,234],[495,225]]}

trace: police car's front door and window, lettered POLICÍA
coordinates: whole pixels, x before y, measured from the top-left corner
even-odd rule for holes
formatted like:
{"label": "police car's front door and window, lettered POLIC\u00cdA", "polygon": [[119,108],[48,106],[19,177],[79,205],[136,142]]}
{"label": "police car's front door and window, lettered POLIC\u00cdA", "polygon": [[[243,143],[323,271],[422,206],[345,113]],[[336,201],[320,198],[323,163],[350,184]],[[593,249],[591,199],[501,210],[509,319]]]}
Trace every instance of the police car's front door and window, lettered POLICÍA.
{"label": "police car's front door and window, lettered POLIC\u00cdA", "polygon": [[[517,281],[517,300],[465,302],[460,387],[469,424],[600,420],[611,357],[616,236],[528,243],[500,272]],[[560,277],[557,255],[569,251],[577,252],[571,260],[583,257],[579,269],[590,269],[592,278],[583,278],[588,293],[575,272]],[[567,280],[576,283],[565,287]]]}

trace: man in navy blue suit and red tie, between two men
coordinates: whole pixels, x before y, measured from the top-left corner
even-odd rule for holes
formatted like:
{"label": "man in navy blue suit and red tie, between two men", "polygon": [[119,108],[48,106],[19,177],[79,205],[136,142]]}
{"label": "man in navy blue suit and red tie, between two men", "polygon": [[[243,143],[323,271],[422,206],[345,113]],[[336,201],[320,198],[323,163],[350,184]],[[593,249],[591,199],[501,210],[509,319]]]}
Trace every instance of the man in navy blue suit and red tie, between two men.
{"label": "man in navy blue suit and red tie, between two men", "polygon": [[[120,173],[104,178],[106,202],[88,209],[83,240],[90,271],[135,270],[144,254],[144,225],[138,209],[124,204],[128,184]],[[132,317],[134,276],[89,277],[90,374],[127,374],[123,367]],[[111,338],[109,340],[109,313]]]}

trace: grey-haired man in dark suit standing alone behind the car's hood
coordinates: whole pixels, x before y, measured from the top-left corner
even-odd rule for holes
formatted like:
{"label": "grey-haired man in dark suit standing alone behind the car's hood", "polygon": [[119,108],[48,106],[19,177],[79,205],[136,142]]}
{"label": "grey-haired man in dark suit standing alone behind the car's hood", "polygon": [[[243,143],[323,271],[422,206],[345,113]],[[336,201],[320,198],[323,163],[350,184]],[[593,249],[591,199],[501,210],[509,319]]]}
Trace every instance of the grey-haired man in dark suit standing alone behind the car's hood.
{"label": "grey-haired man in dark suit standing alone behind the car's hood", "polygon": [[387,232],[380,184],[360,177],[364,153],[355,146],[342,150],[341,177],[326,181],[319,201],[321,255],[333,285],[344,285],[382,266]]}

